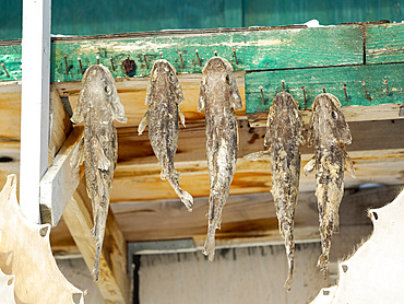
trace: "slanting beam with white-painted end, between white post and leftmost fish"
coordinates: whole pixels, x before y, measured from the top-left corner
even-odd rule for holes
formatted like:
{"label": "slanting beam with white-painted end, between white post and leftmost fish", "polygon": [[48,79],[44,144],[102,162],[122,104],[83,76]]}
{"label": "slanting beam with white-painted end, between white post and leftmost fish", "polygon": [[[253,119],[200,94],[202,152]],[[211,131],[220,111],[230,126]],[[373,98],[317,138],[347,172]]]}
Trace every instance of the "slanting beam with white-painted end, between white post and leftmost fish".
{"label": "slanting beam with white-painted end, between white post and leftmost fish", "polygon": [[55,161],[40,179],[40,215],[44,223],[56,226],[79,186],[84,171],[70,163],[83,140],[84,128],[76,127],[63,143]]}

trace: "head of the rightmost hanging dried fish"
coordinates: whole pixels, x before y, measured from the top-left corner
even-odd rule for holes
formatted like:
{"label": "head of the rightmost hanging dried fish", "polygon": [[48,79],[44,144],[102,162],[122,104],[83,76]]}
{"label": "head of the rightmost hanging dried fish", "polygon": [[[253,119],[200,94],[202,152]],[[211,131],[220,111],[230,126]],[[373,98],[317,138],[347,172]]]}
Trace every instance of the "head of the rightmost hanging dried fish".
{"label": "head of the rightmost hanging dried fish", "polygon": [[320,136],[332,141],[350,144],[349,126],[341,112],[341,103],[334,95],[329,93],[318,95],[312,110],[310,129],[317,129]]}

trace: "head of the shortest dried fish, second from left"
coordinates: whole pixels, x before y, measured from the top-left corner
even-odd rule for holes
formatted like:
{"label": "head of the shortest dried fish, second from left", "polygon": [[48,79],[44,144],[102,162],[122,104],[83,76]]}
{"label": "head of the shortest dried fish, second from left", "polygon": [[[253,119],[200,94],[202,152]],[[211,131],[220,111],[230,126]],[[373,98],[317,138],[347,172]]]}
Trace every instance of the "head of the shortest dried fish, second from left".
{"label": "head of the shortest dried fish, second from left", "polygon": [[174,94],[176,103],[183,102],[181,85],[177,78],[177,71],[166,59],[158,59],[154,62],[150,84],[147,87],[146,105],[152,103],[152,94],[154,92],[167,92]]}

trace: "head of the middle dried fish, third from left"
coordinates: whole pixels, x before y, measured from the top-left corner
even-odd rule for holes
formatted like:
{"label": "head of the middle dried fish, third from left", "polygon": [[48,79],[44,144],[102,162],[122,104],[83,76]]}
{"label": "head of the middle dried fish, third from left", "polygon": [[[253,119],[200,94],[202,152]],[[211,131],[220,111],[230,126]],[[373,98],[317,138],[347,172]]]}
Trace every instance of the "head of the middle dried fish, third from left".
{"label": "head of the middle dried fish, third from left", "polygon": [[214,87],[213,92],[225,92],[229,98],[230,106],[235,109],[241,109],[241,96],[238,91],[236,79],[233,75],[234,69],[231,65],[222,57],[212,57],[202,70],[202,82],[200,100],[205,100],[203,94],[206,94],[206,86]]}

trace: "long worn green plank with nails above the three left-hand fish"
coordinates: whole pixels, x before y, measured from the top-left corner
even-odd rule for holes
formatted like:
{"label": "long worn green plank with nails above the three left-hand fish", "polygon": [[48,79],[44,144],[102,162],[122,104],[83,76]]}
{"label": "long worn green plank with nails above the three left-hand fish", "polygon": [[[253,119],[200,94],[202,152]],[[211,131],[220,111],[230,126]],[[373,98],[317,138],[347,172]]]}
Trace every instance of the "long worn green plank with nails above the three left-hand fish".
{"label": "long worn green plank with nails above the three left-hand fish", "polygon": [[[163,57],[170,61],[180,73],[200,73],[203,65],[214,56],[214,51],[233,65],[236,71],[260,69],[287,69],[363,63],[361,27],[359,25],[282,28],[270,31],[243,31],[194,34],[150,35],[141,38],[104,39],[84,42],[60,42],[52,44],[51,80],[81,80],[78,57],[83,68],[100,62],[110,67],[114,58],[117,70],[115,77],[123,77],[120,66],[127,55],[135,60],[136,77],[147,75],[153,62]],[[236,49],[238,65],[233,48]],[[202,67],[195,56],[199,50]],[[181,51],[185,68],[178,52]],[[68,55],[69,74],[66,75],[63,55]],[[145,67],[145,54],[148,69]]]}

